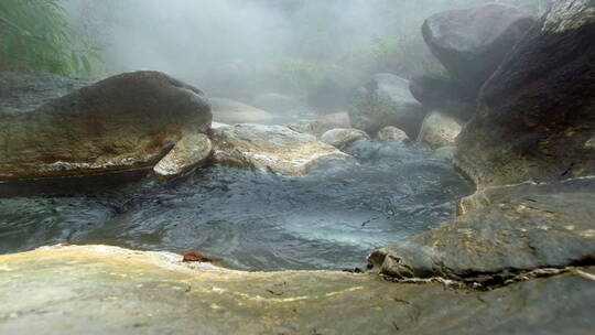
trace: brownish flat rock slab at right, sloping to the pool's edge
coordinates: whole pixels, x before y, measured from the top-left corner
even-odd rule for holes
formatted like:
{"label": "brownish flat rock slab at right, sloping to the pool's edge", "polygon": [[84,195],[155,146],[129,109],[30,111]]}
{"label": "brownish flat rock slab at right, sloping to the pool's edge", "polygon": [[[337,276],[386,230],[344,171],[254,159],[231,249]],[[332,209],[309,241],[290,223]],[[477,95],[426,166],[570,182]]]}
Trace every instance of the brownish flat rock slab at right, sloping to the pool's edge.
{"label": "brownish flat rock slab at right, sloping to the pool's edge", "polygon": [[479,191],[465,214],[369,261],[396,278],[498,282],[523,271],[595,262],[595,180]]}

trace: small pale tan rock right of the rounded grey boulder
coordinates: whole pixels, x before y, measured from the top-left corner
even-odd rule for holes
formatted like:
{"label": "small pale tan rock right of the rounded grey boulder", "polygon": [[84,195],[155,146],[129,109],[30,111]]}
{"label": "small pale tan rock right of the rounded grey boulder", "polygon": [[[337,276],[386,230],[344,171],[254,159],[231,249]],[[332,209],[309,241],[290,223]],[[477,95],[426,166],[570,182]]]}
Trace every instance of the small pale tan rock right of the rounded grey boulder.
{"label": "small pale tan rock right of the rounded grey boulder", "polygon": [[432,111],[423,120],[418,141],[433,148],[454,145],[462,126],[453,118]]}

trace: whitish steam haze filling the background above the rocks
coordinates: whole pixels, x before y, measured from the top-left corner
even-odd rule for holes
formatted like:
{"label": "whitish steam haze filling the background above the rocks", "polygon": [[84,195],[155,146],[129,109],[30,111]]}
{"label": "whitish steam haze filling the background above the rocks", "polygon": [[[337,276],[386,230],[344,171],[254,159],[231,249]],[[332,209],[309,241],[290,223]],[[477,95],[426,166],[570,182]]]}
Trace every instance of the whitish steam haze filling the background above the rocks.
{"label": "whitish steam haze filling the background above the rocks", "polygon": [[545,0],[67,0],[107,75],[158,69],[208,94],[307,100],[328,82],[442,72],[421,37],[432,13],[505,2],[538,14]]}

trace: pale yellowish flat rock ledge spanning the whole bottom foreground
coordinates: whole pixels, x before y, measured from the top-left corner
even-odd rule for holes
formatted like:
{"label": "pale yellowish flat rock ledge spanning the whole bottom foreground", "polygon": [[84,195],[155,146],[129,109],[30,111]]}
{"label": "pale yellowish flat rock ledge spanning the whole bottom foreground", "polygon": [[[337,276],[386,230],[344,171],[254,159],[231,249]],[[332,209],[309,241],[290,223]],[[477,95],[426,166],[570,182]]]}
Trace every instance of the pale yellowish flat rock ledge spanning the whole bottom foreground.
{"label": "pale yellowish flat rock ledge spanning the whole bottom foreground", "polygon": [[181,260],[104,246],[0,256],[0,333],[591,334],[595,325],[593,269],[480,292]]}

